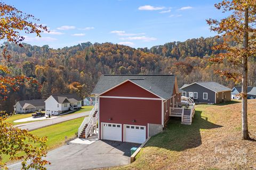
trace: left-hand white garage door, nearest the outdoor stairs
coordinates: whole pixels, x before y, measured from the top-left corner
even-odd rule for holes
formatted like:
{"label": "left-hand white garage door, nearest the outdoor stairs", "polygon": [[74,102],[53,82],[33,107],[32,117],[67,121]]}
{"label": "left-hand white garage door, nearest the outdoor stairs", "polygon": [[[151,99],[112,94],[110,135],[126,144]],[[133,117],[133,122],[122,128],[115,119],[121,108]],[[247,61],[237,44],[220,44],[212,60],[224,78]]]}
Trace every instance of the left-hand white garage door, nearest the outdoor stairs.
{"label": "left-hand white garage door, nearest the outdoor stairs", "polygon": [[101,139],[122,141],[122,125],[101,123]]}

